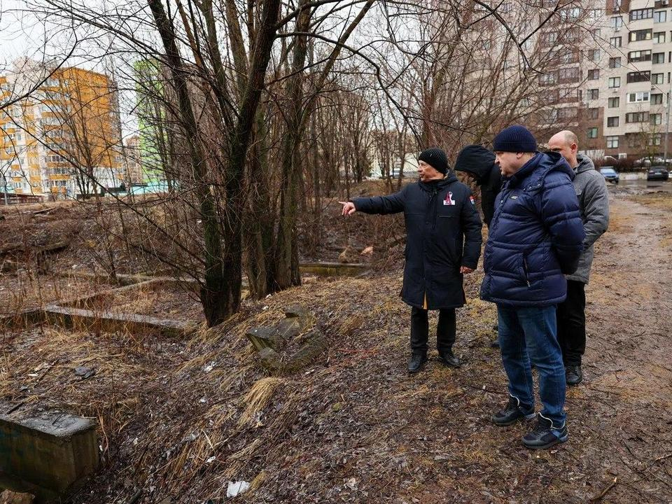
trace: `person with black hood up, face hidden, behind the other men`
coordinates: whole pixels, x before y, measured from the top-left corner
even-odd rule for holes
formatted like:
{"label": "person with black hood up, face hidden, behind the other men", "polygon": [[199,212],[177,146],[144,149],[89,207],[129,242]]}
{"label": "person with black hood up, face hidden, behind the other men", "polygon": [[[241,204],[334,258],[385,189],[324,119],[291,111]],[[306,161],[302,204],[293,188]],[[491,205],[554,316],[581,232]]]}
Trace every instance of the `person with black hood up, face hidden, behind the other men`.
{"label": "person with black hood up, face hidden, behind the other men", "polygon": [[[484,146],[470,145],[463,148],[457,155],[455,171],[464,172],[475,180],[481,190],[481,208],[483,221],[490,228],[490,221],[495,213],[495,200],[502,188],[502,174],[495,164],[495,155]],[[498,330],[498,326],[493,327]],[[490,346],[499,346],[499,336]]]}

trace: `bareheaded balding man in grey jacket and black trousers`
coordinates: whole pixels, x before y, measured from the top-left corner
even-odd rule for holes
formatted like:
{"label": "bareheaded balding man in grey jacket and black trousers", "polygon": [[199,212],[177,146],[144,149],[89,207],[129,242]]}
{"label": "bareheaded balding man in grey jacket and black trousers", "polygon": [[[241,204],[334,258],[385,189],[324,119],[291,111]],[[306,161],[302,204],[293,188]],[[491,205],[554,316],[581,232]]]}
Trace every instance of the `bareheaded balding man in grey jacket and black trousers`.
{"label": "bareheaded balding man in grey jacket and black trousers", "polygon": [[579,267],[567,275],[567,299],[556,311],[558,342],[562,349],[568,386],[581,383],[581,358],[586,350],[585,286],[593,262],[593,245],[609,225],[609,195],[604,177],[593,162],[578,151],[578,139],[573,132],[561,131],[548,141],[549,151],[561,153],[576,174],[573,180],[579,200],[581,219],[586,233],[584,251]]}

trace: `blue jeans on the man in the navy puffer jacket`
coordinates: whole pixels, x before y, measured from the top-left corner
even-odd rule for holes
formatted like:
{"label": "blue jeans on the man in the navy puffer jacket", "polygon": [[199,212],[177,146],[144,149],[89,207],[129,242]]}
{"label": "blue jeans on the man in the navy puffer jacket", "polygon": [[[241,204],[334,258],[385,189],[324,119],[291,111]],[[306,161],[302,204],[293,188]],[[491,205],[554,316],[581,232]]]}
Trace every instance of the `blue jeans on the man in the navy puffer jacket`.
{"label": "blue jeans on the man in the navy puffer jacket", "polygon": [[558,344],[555,306],[511,308],[497,305],[499,346],[509,393],[522,405],[534,405],[530,361],[539,375],[542,416],[561,428],[566,419],[565,367]]}

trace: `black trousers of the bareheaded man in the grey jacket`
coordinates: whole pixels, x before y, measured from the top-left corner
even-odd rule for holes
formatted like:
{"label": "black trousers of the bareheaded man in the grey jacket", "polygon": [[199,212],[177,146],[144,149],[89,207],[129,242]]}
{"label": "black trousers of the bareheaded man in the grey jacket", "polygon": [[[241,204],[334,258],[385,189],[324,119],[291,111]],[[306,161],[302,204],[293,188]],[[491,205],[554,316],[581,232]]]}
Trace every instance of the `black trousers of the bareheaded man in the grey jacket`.
{"label": "black trousers of the bareheaded man in the grey jacket", "polygon": [[558,343],[565,365],[581,365],[586,351],[586,284],[567,281],[567,299],[558,304]]}

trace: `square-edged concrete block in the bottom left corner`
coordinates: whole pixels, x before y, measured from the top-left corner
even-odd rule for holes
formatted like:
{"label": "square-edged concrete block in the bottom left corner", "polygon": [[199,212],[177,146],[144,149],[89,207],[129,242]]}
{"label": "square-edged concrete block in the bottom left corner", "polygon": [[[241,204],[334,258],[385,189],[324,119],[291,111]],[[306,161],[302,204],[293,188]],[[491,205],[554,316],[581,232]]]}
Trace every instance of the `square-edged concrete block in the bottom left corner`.
{"label": "square-edged concrete block in the bottom left corner", "polygon": [[78,489],[99,464],[96,424],[69,415],[0,415],[0,487],[42,500]]}

